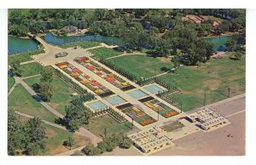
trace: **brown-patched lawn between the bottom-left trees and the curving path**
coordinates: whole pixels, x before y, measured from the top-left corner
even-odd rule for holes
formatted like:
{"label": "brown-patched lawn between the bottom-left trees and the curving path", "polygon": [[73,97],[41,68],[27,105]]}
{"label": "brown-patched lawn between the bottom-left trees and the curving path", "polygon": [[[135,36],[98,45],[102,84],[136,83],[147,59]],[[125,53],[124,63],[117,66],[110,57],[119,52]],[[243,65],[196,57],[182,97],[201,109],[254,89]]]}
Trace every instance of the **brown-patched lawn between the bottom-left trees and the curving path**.
{"label": "brown-patched lawn between the bottom-left trees and the curving path", "polygon": [[[29,118],[22,117],[20,115],[16,115],[20,122],[27,122]],[[46,139],[46,155],[56,155],[60,154],[62,152],[68,151],[69,149],[62,145],[63,141],[68,139],[68,137],[71,137],[74,139],[74,145],[72,149],[77,148],[79,146],[87,145],[90,143],[90,139],[85,138],[84,136],[80,136],[79,134],[73,134],[70,132],[67,132],[67,130],[63,130],[61,128],[55,128],[53,126],[50,126],[48,124],[43,123],[44,128],[46,128],[46,136],[48,139]]]}

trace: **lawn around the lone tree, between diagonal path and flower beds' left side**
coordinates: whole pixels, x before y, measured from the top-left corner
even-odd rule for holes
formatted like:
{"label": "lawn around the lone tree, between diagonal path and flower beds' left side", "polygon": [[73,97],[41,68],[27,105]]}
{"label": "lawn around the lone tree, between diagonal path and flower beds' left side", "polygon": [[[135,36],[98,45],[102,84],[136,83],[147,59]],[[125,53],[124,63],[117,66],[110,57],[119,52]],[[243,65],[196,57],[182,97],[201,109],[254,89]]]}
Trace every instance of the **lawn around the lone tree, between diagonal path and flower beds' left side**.
{"label": "lawn around the lone tree, between diagonal path and flower beds' left side", "polygon": [[[25,79],[25,82],[32,86],[34,83],[40,83],[41,76],[31,77]],[[66,115],[65,106],[69,105],[69,102],[72,100],[71,94],[76,92],[73,88],[64,83],[59,77],[54,75],[53,78],[53,97],[49,101],[49,105],[53,107],[56,111],[59,111],[62,115]]]}

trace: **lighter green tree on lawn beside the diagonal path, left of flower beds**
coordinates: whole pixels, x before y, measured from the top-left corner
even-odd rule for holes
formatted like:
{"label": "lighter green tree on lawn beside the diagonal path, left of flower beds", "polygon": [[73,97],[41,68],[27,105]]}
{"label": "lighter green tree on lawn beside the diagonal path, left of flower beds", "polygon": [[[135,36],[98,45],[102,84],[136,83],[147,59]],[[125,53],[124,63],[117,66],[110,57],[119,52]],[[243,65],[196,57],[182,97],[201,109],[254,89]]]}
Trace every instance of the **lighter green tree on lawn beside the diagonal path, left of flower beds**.
{"label": "lighter green tree on lawn beside the diagonal path, left of flower beds", "polygon": [[44,101],[49,101],[53,96],[53,87],[50,83],[41,82],[39,93]]}

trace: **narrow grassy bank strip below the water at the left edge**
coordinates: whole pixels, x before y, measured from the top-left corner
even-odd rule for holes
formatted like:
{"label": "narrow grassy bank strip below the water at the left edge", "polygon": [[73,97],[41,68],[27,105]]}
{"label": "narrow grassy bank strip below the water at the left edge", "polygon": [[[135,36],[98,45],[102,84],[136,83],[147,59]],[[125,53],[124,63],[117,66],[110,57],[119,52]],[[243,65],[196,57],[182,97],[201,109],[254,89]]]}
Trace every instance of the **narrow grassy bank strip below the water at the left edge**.
{"label": "narrow grassy bank strip below the water at the left edge", "polygon": [[8,55],[8,65],[13,65],[15,61],[19,61],[21,63],[21,62],[32,60],[32,57],[31,57],[32,55],[43,54],[43,53],[44,53],[44,48],[40,47],[37,50],[34,50],[32,52],[28,51],[21,54]]}

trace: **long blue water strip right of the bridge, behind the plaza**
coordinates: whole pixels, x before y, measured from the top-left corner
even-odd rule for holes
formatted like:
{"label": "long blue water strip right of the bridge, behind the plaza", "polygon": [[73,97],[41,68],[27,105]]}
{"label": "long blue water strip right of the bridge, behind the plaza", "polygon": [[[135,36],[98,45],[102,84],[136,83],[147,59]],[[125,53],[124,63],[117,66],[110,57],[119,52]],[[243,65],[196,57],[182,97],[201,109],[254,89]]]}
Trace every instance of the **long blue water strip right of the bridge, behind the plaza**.
{"label": "long blue water strip right of the bridge, behind the plaza", "polygon": [[57,37],[53,35],[51,32],[47,33],[44,36],[44,40],[48,43],[52,43],[55,45],[61,45],[65,43],[73,43],[77,41],[95,41],[107,44],[116,44],[116,45],[123,45],[124,42],[120,37],[102,37],[102,36],[75,36],[75,37]]}

